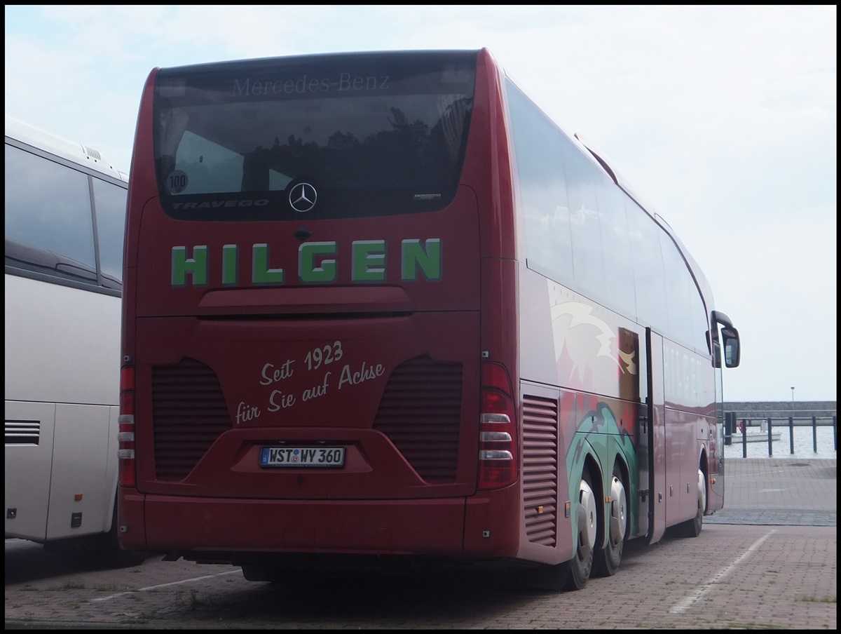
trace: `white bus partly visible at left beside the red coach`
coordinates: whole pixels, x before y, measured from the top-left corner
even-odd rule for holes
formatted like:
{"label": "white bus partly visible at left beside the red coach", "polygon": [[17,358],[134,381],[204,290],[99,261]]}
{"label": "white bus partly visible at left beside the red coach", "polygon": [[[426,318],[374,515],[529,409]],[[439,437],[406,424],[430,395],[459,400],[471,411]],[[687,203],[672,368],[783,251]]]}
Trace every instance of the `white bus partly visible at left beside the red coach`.
{"label": "white bus partly visible at left beside the red coach", "polygon": [[6,538],[138,559],[116,539],[128,175],[6,116]]}

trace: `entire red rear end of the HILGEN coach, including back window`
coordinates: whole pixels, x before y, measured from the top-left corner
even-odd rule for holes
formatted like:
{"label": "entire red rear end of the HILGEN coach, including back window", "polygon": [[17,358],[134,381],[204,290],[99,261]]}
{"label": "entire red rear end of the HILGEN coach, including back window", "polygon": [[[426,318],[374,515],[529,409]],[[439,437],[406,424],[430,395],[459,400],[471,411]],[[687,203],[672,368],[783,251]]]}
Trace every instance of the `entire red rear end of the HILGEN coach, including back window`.
{"label": "entire red rear end of the HILGEN coach, including back window", "polygon": [[[518,514],[491,510],[519,503],[516,367],[480,317],[510,328],[516,306],[510,247],[479,240],[510,199],[475,184],[496,123],[475,104],[497,90],[478,60],[151,73],[125,256],[127,546],[516,555]],[[480,446],[483,413],[509,440]]]}

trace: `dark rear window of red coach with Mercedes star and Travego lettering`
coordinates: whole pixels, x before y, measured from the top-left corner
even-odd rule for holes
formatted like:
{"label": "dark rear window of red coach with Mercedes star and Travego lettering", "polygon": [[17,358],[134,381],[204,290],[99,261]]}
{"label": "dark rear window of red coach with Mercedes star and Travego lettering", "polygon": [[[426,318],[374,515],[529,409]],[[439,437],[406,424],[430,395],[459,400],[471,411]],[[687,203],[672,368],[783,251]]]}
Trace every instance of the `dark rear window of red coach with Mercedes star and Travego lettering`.
{"label": "dark rear window of red coach with Mercedes star and Travego lettering", "polygon": [[[161,204],[190,219],[437,210],[455,195],[475,52],[304,56],[162,69]],[[295,209],[296,185],[314,203]]]}

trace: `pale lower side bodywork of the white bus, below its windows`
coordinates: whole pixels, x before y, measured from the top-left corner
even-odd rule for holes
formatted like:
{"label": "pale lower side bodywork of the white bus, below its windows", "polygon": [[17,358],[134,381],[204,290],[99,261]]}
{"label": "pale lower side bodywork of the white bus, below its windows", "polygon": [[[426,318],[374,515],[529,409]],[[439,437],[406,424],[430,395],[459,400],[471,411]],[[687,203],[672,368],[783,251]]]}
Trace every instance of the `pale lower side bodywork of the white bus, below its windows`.
{"label": "pale lower side bodywork of the white bus, below its windows", "polygon": [[5,285],[7,434],[12,421],[40,423],[37,444],[7,438],[5,536],[107,531],[117,486],[119,297],[11,274]]}

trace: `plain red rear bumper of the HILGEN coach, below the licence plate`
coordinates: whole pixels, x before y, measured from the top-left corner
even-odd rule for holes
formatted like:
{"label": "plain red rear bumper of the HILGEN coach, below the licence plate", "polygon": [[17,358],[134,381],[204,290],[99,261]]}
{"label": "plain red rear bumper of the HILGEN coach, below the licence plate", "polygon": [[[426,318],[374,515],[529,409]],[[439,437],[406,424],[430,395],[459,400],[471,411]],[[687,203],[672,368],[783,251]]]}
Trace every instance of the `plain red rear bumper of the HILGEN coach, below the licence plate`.
{"label": "plain red rear bumper of the HILGEN coach, below the licence plate", "polygon": [[[187,559],[202,552],[511,557],[516,488],[471,498],[243,500],[143,495],[121,489],[120,543]],[[505,507],[507,511],[503,511]]]}

